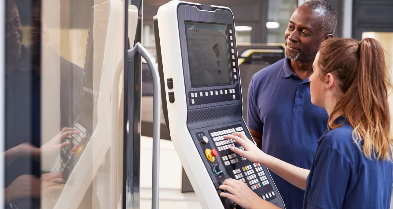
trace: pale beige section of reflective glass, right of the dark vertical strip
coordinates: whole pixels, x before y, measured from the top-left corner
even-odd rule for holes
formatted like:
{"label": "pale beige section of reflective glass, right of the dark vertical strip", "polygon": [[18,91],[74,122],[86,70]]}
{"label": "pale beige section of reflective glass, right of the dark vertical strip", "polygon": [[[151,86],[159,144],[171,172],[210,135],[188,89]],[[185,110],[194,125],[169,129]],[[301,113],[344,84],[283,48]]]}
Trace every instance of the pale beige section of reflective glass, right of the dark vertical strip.
{"label": "pale beige section of reflective glass, right of the dark vertical strip", "polygon": [[[59,181],[56,189],[42,187],[42,208],[110,208],[113,198],[121,204],[123,180],[123,78],[114,71],[124,67],[124,2],[66,3],[47,0],[42,7],[48,38],[42,40],[41,144],[48,151],[42,150],[41,171]],[[118,94],[111,99],[112,82]]]}

